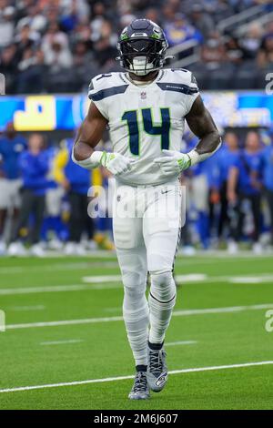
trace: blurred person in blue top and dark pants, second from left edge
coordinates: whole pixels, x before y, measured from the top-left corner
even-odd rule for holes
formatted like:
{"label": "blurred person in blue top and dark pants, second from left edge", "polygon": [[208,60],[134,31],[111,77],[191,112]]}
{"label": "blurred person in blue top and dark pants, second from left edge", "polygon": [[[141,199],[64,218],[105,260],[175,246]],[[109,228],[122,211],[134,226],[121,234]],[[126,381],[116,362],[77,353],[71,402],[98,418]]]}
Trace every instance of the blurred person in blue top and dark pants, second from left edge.
{"label": "blurred person in blue top and dark pants, second from left edge", "polygon": [[[49,170],[49,159],[44,144],[44,138],[41,134],[32,134],[28,139],[27,150],[19,158],[19,168],[23,180],[22,206],[8,248],[10,256],[25,254],[25,247],[20,239],[25,236],[25,230],[29,228],[31,219],[30,232],[28,233],[31,253],[39,257],[44,255],[44,251],[39,245],[45,211],[45,192],[49,186],[46,177]],[[31,219],[30,216],[32,216]]]}

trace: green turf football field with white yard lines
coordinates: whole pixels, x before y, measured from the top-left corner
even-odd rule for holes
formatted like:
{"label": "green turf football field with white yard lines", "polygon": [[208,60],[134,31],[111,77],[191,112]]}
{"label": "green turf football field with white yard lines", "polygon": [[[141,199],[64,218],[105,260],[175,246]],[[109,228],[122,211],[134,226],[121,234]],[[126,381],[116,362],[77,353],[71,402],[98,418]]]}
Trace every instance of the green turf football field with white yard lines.
{"label": "green turf football field with white yard lines", "polygon": [[0,260],[0,409],[273,408],[272,257],[177,258],[166,340],[177,372],[147,402],[129,402],[132,380],[119,379],[134,367],[118,274],[114,255]]}

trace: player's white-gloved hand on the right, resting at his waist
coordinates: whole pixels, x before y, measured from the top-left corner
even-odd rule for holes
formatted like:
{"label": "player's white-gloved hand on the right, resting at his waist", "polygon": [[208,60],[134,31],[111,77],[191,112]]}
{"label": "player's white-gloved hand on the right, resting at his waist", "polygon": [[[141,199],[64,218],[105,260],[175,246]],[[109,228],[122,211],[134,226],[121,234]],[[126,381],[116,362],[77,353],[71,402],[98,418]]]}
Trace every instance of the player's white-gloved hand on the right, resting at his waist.
{"label": "player's white-gloved hand on the right, resting at his waist", "polygon": [[162,150],[162,153],[165,156],[156,158],[154,163],[159,165],[163,174],[179,174],[180,172],[190,167],[191,161],[186,153],[179,153],[175,150]]}

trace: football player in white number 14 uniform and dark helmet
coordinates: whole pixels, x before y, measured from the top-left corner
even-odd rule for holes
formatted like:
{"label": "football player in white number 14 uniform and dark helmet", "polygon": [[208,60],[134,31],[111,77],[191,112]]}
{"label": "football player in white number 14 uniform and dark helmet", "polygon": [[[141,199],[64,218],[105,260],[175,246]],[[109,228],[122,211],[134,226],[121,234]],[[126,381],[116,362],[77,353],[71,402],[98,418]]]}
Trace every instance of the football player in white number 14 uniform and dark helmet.
{"label": "football player in white number 14 uniform and dark helmet", "polygon": [[[136,362],[129,398],[140,400],[167,382],[163,345],[176,302],[172,272],[181,213],[178,178],[215,153],[221,142],[192,73],[163,68],[167,39],[157,24],[134,20],[122,31],[117,49],[125,72],[92,79],[92,102],[73,158],[84,168],[103,165],[116,177],[114,239],[124,284],[123,316]],[[183,154],[185,120],[199,140]],[[113,153],[95,150],[106,126]]]}

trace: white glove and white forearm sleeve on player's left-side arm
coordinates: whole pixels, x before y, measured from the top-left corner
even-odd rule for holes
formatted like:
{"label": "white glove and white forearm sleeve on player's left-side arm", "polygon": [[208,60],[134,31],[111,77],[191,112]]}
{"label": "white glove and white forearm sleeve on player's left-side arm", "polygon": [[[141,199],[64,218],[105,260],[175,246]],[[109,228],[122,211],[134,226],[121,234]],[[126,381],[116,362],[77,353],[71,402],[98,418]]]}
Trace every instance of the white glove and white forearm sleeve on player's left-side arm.
{"label": "white glove and white forearm sleeve on player's left-side arm", "polygon": [[72,159],[77,165],[86,169],[93,169],[102,165],[114,176],[129,171],[134,162],[134,159],[126,158],[119,153],[107,153],[106,151],[94,151],[90,158],[84,160],[76,160],[74,152],[72,152]]}

